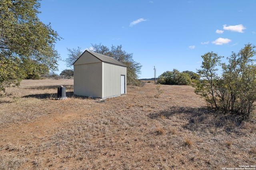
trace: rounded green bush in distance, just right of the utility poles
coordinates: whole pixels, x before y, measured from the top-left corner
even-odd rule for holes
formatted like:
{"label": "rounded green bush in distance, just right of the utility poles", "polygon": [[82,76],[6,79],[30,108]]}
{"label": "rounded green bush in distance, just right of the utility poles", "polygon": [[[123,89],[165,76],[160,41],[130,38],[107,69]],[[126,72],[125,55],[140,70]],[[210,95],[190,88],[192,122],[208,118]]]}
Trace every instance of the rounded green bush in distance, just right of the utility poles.
{"label": "rounded green bush in distance, just right of the utility poles", "polygon": [[157,83],[168,85],[188,85],[191,83],[191,79],[189,74],[173,69],[172,71],[166,71],[161,74]]}

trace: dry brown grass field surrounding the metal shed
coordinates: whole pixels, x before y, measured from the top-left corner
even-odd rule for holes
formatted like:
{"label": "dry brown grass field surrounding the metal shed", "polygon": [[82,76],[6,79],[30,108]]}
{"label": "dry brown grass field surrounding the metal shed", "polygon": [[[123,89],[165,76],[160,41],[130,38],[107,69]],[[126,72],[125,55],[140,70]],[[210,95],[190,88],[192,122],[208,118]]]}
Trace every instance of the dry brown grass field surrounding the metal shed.
{"label": "dry brown grass field surrounding the metal shed", "polygon": [[[67,100],[54,100],[57,87]],[[0,98],[0,170],[221,170],[256,165],[256,119],[208,110],[191,86],[73,96],[73,80],[23,80]],[[253,168],[253,167],[252,167]]]}

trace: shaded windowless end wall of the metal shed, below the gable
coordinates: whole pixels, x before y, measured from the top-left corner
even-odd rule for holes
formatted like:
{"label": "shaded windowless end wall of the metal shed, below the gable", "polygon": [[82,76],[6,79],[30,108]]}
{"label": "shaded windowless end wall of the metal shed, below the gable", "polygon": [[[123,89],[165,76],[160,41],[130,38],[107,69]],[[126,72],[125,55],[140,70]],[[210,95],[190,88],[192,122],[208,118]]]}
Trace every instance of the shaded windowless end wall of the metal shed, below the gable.
{"label": "shaded windowless end wall of the metal shed, below the gable", "polygon": [[102,63],[77,65],[78,61],[74,65],[74,94],[102,98]]}

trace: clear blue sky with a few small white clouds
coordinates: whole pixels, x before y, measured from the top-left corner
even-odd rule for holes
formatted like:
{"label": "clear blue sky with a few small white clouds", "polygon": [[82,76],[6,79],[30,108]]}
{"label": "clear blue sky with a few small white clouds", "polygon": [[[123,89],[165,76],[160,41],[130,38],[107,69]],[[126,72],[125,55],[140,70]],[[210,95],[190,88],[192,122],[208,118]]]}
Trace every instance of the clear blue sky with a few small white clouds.
{"label": "clear blue sky with a few small white clouds", "polygon": [[[122,45],[142,65],[140,78],[174,68],[196,72],[202,55],[229,57],[256,45],[256,0],[42,0],[39,19],[61,39],[56,50]],[[59,74],[67,69],[59,62]],[[68,68],[69,69],[69,68]]]}

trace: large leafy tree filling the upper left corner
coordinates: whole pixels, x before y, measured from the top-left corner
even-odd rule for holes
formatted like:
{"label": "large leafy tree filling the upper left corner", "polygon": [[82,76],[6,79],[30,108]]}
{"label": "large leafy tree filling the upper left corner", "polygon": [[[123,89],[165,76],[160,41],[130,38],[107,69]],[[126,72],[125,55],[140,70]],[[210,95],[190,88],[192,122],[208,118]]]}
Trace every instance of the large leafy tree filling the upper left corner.
{"label": "large leafy tree filling the upper left corner", "polygon": [[[50,24],[45,25],[38,19],[37,14],[40,13],[38,8],[40,8],[38,0],[0,1],[0,90],[2,92],[5,92],[6,87],[19,85],[28,75],[29,69],[25,71],[24,68],[44,65],[43,67],[48,70],[58,70],[56,65],[59,55],[54,49],[54,44],[60,37]],[[38,73],[37,70],[33,71],[35,74]]]}

